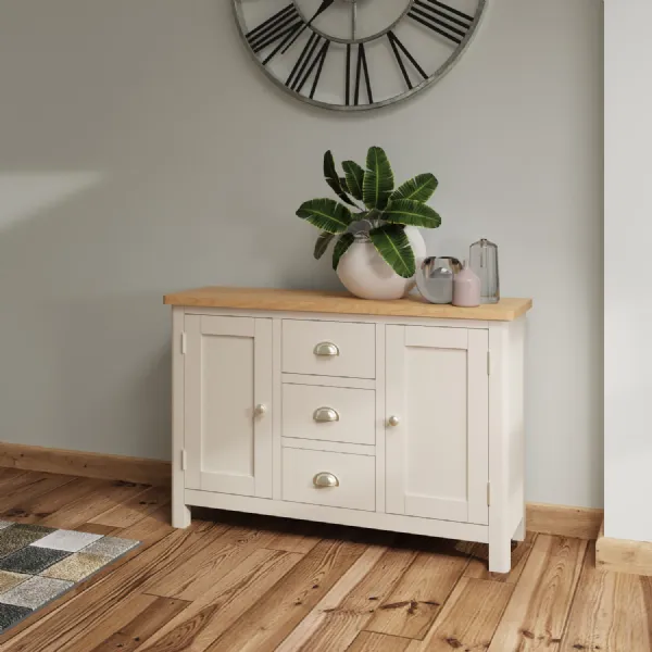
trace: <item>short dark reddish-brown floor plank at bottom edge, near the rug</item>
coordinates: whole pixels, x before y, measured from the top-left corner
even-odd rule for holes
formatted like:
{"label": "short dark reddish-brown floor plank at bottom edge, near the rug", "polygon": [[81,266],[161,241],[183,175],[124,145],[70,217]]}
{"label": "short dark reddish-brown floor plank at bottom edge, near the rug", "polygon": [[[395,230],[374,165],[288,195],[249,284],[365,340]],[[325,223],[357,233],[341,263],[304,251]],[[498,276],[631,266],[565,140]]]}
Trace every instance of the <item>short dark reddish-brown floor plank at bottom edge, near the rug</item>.
{"label": "short dark reddish-brown floor plank at bottom edge, near the rug", "polygon": [[183,600],[154,598],[142,612],[89,652],[134,652],[189,604]]}

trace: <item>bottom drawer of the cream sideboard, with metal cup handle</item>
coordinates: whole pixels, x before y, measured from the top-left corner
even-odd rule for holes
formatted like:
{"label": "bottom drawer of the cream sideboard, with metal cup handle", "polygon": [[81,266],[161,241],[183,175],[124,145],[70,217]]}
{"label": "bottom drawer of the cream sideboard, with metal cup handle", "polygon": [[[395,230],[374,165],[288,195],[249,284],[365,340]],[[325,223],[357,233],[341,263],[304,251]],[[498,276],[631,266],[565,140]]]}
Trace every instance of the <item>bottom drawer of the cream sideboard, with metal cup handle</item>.
{"label": "bottom drawer of the cream sideboard, with metal cup handle", "polygon": [[374,512],[376,457],[286,448],[283,500]]}

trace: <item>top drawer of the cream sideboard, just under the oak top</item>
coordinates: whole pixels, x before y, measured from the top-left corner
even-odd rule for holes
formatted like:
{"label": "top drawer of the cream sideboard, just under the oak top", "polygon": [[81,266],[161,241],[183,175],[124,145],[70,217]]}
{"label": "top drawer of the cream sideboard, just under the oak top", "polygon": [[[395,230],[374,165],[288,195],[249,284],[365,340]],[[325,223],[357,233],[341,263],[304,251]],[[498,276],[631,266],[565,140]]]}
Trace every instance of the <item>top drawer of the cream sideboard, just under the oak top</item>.
{"label": "top drawer of the cream sideboard, just under the oak top", "polygon": [[350,322],[283,321],[286,374],[376,377],[376,326]]}

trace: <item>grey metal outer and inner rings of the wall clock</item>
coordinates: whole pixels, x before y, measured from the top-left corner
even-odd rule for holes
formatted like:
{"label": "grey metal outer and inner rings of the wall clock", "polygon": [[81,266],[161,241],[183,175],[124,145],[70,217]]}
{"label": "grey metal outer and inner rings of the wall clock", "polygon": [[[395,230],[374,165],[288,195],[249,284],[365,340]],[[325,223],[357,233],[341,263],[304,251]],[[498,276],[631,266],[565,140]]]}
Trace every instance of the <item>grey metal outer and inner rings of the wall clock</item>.
{"label": "grey metal outer and inner rings of the wall clock", "polygon": [[[303,15],[301,8],[297,4],[297,0],[292,0],[292,2],[294,4],[294,7],[297,8],[298,13]],[[278,86],[279,88],[285,90],[287,93],[291,95],[293,98],[299,99],[302,102],[305,102],[306,104],[313,104],[314,106],[321,106],[322,109],[329,109],[330,111],[369,111],[372,109],[380,109],[383,106],[389,106],[390,104],[394,104],[396,102],[406,100],[408,98],[424,90],[424,88],[430,86],[431,84],[439,82],[439,79],[441,79],[455,65],[455,63],[457,63],[457,61],[460,60],[462,54],[464,54],[464,52],[471,45],[471,41],[473,40],[473,38],[478,29],[478,26],[480,25],[482,16],[485,15],[485,9],[487,7],[487,2],[488,2],[488,0],[478,0],[478,9],[476,10],[473,23],[471,24],[471,27],[468,28],[466,36],[462,39],[462,42],[455,48],[453,53],[446,60],[446,62],[427,79],[424,79],[419,84],[415,85],[413,88],[408,89],[405,92],[394,96],[393,98],[389,98],[388,100],[383,100],[381,102],[374,102],[373,104],[359,104],[358,106],[354,106],[354,105],[346,105],[346,104],[329,104],[328,102],[321,102],[318,100],[313,100],[311,98],[302,96],[301,93],[288,88],[280,79],[275,77],[272,74],[272,72],[269,70],[267,70],[266,66],[261,64],[260,59],[255,55],[255,53],[253,52],[253,50],[250,48],[249,43],[247,42],[247,37],[246,37],[247,27],[244,25],[244,20],[242,16],[242,0],[233,0],[234,13],[235,13],[236,22],[238,25],[238,32],[240,33],[240,38],[242,39],[242,42],[244,43],[244,47],[247,48],[247,51],[250,53],[251,58],[259,64],[259,68],[262,68],[263,73],[269,79],[272,79],[272,82],[274,82],[274,84],[276,86]],[[384,32],[381,32],[379,34],[375,34],[375,35],[373,35],[371,37],[366,37],[366,38],[361,38],[361,39],[355,39],[355,40],[333,38],[326,34],[321,33],[317,29],[314,29],[313,27],[311,27],[311,29],[313,32],[315,32],[316,34],[318,34],[319,36],[323,36],[324,38],[327,38],[334,42],[342,42],[342,43],[350,42],[353,45],[358,43],[358,42],[367,42],[371,40],[375,40],[376,38],[380,38],[383,36],[383,34],[386,34],[390,29],[393,29],[401,21],[403,21],[405,18],[405,15],[410,12],[413,4],[414,4],[414,0],[410,0],[405,11],[389,27],[387,27],[387,29],[385,29]],[[305,17],[305,16],[303,16],[303,17]]]}

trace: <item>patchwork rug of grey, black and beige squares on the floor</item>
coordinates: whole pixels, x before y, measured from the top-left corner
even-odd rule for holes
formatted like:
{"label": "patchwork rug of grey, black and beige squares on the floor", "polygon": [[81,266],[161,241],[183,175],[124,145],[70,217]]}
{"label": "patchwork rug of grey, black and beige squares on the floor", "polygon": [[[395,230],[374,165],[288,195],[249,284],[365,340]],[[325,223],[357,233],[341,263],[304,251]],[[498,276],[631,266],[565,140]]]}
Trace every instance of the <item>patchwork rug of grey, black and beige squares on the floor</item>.
{"label": "patchwork rug of grey, black and beige squares on the floor", "polygon": [[0,634],[139,543],[0,521]]}

